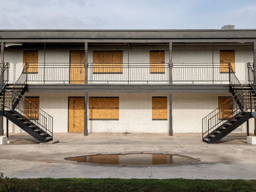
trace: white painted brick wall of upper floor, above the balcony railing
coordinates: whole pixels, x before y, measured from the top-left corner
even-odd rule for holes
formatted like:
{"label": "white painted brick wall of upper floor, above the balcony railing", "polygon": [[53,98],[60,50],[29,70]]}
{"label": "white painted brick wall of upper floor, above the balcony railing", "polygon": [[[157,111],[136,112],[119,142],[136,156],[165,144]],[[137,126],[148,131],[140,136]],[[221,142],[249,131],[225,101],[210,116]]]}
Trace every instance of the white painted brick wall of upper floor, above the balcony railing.
{"label": "white painted brick wall of upper floor, above the balcony railing", "polygon": [[[32,48],[27,48],[31,50]],[[44,62],[44,50],[42,48],[38,49],[38,62]],[[72,48],[51,48],[46,49],[45,62],[46,63],[68,63],[69,62],[69,50],[83,50],[81,47]],[[220,52],[219,50],[234,49],[235,50],[235,66],[236,66],[236,76],[241,83],[247,83],[247,62],[253,61],[253,49],[252,45],[247,44],[215,44],[213,47],[213,61],[219,63]],[[93,62],[92,53],[93,50],[123,50],[123,62],[128,63],[128,48],[127,46],[109,46],[109,45],[94,45],[88,48],[88,62]],[[149,63],[149,51],[150,50],[165,50],[165,63],[169,62],[169,46],[168,45],[134,45],[132,44],[129,48],[129,62],[130,63]],[[187,44],[187,45],[173,45],[172,50],[172,61],[173,63],[191,63],[191,62],[212,62],[212,45],[200,45],[200,44]],[[22,71],[23,62],[23,50],[19,48],[7,48],[4,53],[4,61],[10,62],[10,82],[15,82],[20,76]],[[54,64],[52,66],[54,66]],[[144,74],[146,75],[146,74]],[[89,74],[90,76],[90,74]],[[103,75],[102,75],[103,76]],[[121,75],[119,75],[121,76]],[[37,82],[34,82],[37,83]],[[40,82],[39,82],[40,83]],[[57,82],[54,82],[57,83]],[[62,82],[58,82],[62,83]],[[92,82],[91,82],[92,83]],[[99,83],[99,82],[95,82]],[[104,82],[101,82],[104,83]],[[116,82],[113,82],[116,83]],[[121,82],[120,82],[121,83]],[[146,83],[146,82],[145,82]],[[167,83],[167,82],[163,82]],[[175,82],[180,83],[180,82]],[[188,83],[188,82],[183,82]],[[202,83],[202,82],[195,82]],[[207,82],[204,82],[207,83]],[[210,82],[208,82],[210,83]],[[221,83],[221,82],[215,82]],[[227,82],[223,82],[227,83]]]}

